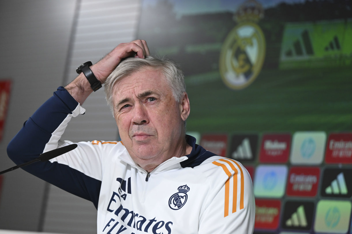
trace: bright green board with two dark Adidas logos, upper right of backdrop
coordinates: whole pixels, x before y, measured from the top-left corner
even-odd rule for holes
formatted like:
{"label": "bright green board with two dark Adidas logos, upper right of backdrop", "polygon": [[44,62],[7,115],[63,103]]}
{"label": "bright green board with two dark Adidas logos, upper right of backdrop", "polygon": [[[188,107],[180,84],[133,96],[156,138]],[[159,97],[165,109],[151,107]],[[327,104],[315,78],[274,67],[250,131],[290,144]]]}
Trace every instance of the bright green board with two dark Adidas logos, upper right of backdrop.
{"label": "bright green board with two dark Adidas logos, upper right of backdrop", "polygon": [[351,23],[343,20],[285,24],[280,69],[350,65],[350,28]]}

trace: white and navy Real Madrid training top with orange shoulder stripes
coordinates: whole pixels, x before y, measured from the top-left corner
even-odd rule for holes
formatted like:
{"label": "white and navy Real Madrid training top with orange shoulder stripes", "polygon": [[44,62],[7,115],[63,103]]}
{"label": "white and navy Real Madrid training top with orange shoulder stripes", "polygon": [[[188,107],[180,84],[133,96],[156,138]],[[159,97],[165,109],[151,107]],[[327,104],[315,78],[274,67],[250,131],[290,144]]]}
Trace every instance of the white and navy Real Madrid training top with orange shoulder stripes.
{"label": "white and navy Real Madrid training top with orange shoulder stripes", "polygon": [[[10,147],[9,156],[19,164],[71,144],[60,137],[69,120],[84,111],[60,87],[13,139],[23,145],[23,154],[12,155]],[[25,170],[92,201],[97,233],[252,233],[255,205],[245,168],[206,151],[193,137],[186,140],[191,154],[172,157],[151,173],[116,141],[79,142],[75,150]]]}

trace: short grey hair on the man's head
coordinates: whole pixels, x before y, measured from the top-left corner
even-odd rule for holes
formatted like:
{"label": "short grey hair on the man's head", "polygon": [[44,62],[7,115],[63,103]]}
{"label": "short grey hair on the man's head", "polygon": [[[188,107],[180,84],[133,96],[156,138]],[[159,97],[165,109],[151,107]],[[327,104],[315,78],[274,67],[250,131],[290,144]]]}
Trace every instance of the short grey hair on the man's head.
{"label": "short grey hair on the man's head", "polygon": [[161,69],[167,84],[172,90],[176,102],[180,102],[183,93],[186,92],[186,85],[184,84],[183,72],[174,61],[169,59],[157,59],[151,56],[142,58],[126,58],[122,60],[115,70],[106,79],[105,94],[106,101],[110,106],[111,111],[114,111],[113,106],[113,87],[114,84],[121,78],[131,76],[132,73],[141,71],[145,68]]}

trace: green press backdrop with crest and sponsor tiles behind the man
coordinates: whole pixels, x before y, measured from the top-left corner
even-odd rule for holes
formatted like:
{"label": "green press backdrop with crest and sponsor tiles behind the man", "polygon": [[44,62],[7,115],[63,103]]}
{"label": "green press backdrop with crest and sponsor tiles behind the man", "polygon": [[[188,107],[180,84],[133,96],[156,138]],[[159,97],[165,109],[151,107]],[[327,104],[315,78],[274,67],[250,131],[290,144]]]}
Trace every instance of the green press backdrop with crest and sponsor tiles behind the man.
{"label": "green press backdrop with crest and sponsor tiles behind the man", "polygon": [[144,0],[199,144],[245,165],[255,233],[352,233],[351,1]]}

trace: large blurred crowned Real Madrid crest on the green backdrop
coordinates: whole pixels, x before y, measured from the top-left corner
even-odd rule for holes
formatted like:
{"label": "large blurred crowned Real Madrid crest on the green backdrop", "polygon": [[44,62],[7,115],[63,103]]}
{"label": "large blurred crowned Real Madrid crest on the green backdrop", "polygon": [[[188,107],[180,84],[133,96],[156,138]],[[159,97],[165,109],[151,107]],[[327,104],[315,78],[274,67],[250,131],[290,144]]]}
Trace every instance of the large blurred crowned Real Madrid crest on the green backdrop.
{"label": "large blurred crowned Real Madrid crest on the green backdrop", "polygon": [[244,89],[257,78],[265,57],[265,38],[256,24],[264,9],[256,0],[245,1],[234,14],[238,24],[222,44],[219,69],[231,89]]}

